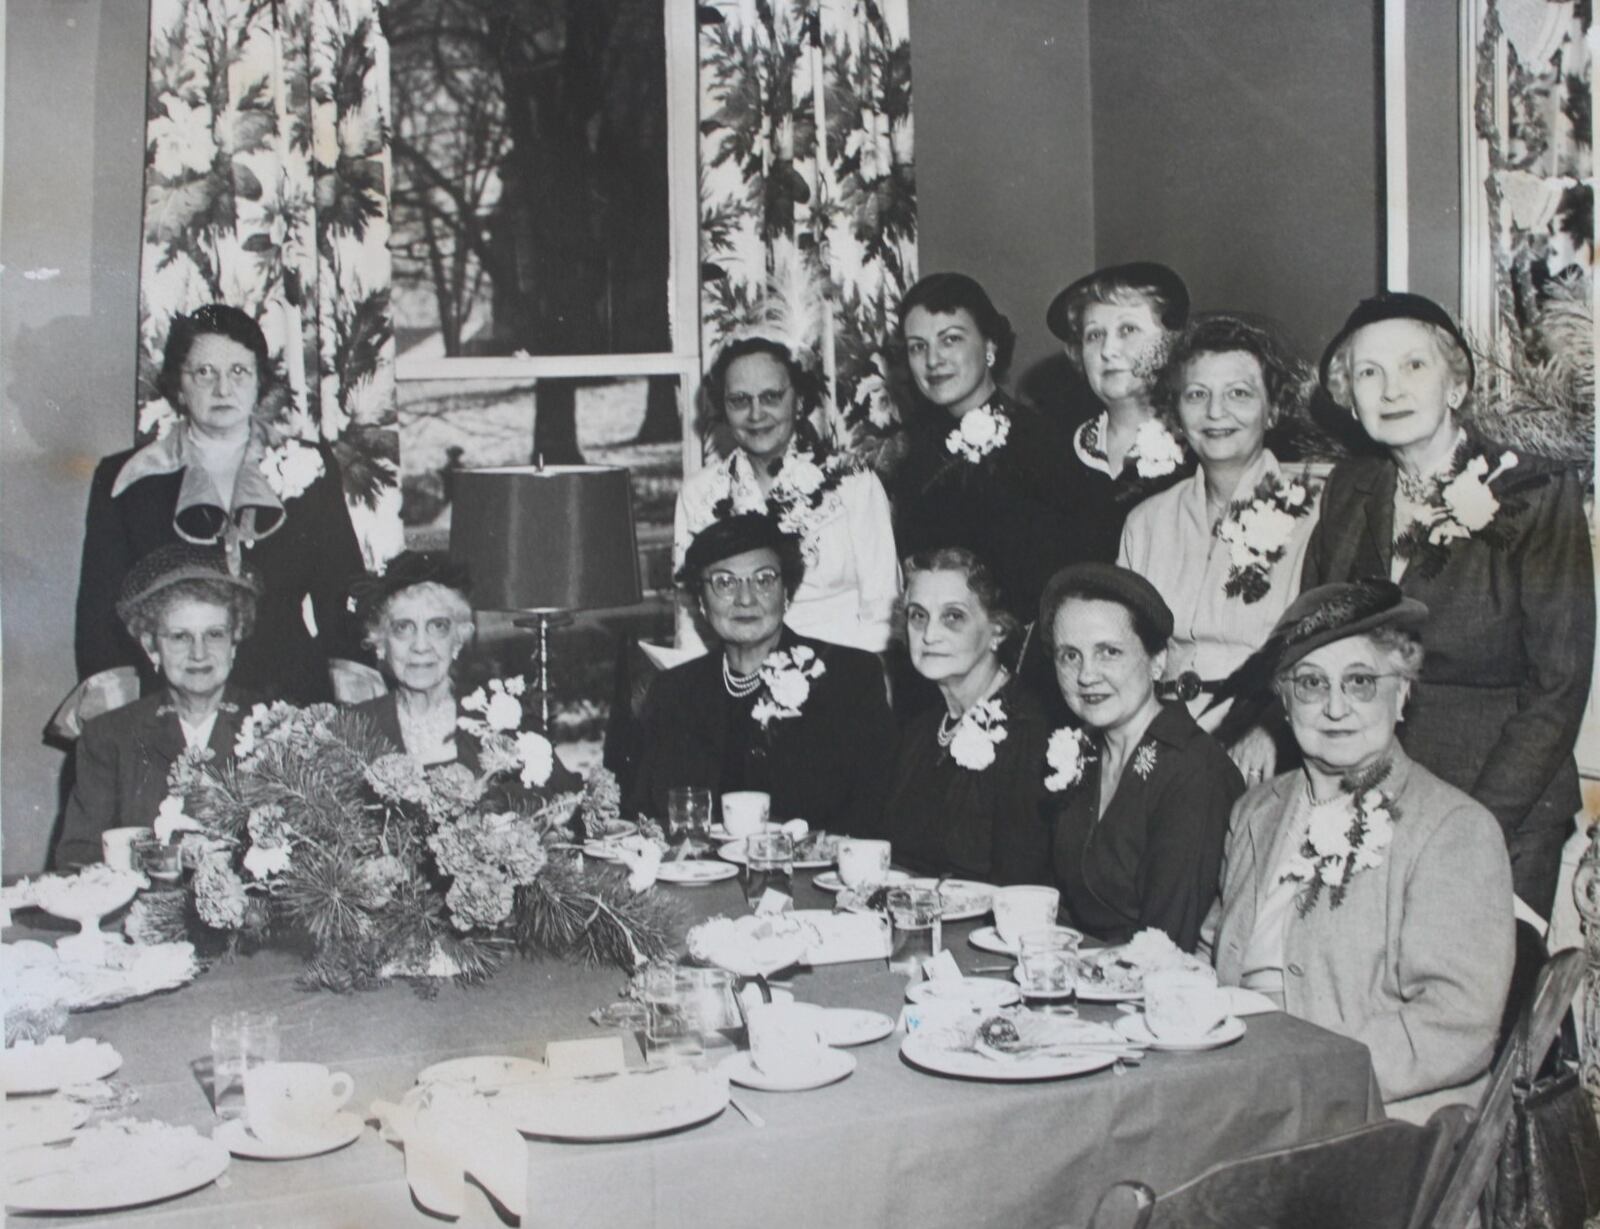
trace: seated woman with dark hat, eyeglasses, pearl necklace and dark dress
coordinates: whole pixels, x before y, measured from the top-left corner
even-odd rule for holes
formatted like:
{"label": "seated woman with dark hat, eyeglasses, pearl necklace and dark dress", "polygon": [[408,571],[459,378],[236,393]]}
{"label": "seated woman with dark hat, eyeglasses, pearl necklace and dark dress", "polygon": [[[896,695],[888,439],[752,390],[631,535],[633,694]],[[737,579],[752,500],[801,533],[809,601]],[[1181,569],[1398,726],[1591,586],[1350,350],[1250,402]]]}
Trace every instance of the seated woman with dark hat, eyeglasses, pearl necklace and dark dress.
{"label": "seated woman with dark hat, eyeglasses, pearl necklace and dark dress", "polygon": [[883,669],[870,653],[784,626],[803,566],[800,544],[758,512],[714,520],[690,542],[678,584],[720,643],[651,683],[630,811],[666,816],[674,786],[718,799],[758,789],[776,819],[858,835],[877,827],[893,762]]}

